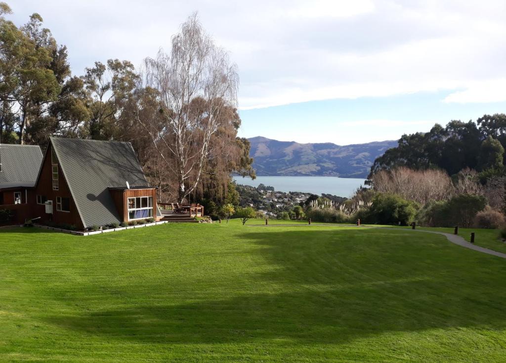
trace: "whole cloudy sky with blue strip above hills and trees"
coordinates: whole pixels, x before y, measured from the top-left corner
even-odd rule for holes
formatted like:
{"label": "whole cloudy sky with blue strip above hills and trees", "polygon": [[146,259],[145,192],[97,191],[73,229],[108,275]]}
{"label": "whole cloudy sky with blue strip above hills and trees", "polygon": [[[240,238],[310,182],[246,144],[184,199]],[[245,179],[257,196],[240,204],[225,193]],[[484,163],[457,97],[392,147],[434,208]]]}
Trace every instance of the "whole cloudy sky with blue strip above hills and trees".
{"label": "whole cloudy sky with blue strip above hills and trees", "polygon": [[194,11],[239,69],[242,137],[395,140],[506,112],[504,0],[7,0],[37,12],[76,75],[141,66]]}

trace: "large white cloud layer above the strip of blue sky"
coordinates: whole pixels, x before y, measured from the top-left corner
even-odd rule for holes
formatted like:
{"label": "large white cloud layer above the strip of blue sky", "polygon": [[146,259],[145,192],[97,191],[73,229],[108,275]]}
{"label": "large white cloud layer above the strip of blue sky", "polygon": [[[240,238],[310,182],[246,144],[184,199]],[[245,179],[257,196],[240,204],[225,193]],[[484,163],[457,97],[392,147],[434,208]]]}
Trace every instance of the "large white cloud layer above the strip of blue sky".
{"label": "large white cloud layer above the strip of blue sky", "polygon": [[[12,2],[11,2],[12,3]],[[506,99],[503,0],[16,0],[68,46],[74,73],[95,60],[136,65],[170,46],[193,11],[237,62],[242,109],[332,98],[459,90],[445,102]],[[97,11],[97,9],[99,9]]]}

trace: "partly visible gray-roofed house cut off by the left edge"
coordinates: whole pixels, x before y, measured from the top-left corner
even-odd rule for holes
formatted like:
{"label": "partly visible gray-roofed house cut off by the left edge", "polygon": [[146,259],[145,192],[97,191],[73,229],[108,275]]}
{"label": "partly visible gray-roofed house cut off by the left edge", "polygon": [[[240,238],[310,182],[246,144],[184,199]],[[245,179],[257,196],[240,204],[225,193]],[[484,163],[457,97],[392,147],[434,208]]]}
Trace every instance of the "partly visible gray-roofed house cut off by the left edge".
{"label": "partly visible gray-roofed house cut off by the left edge", "polygon": [[24,221],[43,154],[36,145],[0,145],[0,210]]}

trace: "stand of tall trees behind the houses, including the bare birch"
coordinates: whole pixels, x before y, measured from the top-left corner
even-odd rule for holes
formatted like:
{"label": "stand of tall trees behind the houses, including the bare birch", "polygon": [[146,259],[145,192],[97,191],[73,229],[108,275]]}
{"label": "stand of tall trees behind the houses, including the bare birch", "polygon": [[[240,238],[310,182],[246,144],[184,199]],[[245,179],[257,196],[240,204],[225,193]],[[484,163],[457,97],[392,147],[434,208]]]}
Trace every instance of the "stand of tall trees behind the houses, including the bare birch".
{"label": "stand of tall trees behind the houses, including the bare birch", "polygon": [[0,3],[1,142],[45,147],[51,135],[128,141],[161,199],[238,204],[230,175],[255,172],[249,142],[237,137],[236,66],[196,14],[173,37],[170,56],[146,59],[144,74],[128,60],[109,59],[82,76],[71,74],[67,48],[39,14],[19,27],[9,14]]}

